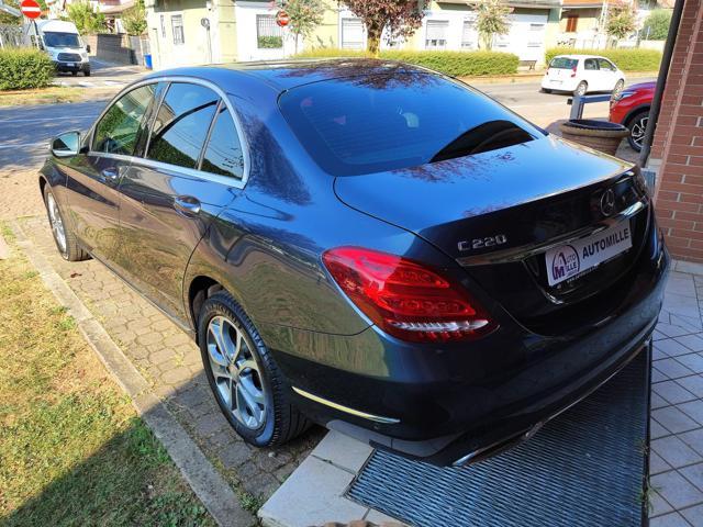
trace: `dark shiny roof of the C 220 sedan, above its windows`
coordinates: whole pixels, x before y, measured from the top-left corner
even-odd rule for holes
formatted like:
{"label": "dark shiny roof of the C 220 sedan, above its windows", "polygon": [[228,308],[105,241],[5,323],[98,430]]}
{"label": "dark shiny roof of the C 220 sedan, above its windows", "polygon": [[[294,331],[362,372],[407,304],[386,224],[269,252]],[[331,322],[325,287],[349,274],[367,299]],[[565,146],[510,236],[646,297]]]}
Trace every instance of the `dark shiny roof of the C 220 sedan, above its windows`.
{"label": "dark shiny roof of the C 220 sedan, above its windows", "polygon": [[368,77],[373,75],[433,74],[428,69],[373,58],[294,59],[253,63],[232,63],[212,66],[166,69],[145,78],[196,77],[209,80],[227,91],[237,78],[247,77],[263,86],[282,92],[298,86],[321,80]]}

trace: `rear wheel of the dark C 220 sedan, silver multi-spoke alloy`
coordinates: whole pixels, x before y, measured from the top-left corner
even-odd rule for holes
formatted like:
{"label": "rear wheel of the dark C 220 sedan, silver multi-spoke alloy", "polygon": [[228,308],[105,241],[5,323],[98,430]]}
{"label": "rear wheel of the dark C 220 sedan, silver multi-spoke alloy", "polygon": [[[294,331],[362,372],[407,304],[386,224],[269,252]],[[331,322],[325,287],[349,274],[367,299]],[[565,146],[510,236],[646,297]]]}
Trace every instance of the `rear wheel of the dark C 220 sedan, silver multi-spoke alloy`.
{"label": "rear wheel of the dark C 220 sedan, silver multi-spoke alloy", "polygon": [[227,292],[203,303],[198,341],[217,405],[246,442],[282,445],[308,429],[310,422],[293,406],[288,382],[261,336]]}

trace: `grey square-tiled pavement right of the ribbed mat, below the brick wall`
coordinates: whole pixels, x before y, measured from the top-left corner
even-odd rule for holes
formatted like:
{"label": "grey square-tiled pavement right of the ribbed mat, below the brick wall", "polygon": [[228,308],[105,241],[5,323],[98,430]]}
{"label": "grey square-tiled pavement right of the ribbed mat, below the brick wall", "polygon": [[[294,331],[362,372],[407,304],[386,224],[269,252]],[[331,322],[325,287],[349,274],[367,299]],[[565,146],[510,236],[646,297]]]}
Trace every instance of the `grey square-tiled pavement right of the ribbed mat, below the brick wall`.
{"label": "grey square-tiled pavement right of the ribbed mat, below the brick wall", "polygon": [[651,372],[651,527],[703,527],[703,276],[671,272]]}

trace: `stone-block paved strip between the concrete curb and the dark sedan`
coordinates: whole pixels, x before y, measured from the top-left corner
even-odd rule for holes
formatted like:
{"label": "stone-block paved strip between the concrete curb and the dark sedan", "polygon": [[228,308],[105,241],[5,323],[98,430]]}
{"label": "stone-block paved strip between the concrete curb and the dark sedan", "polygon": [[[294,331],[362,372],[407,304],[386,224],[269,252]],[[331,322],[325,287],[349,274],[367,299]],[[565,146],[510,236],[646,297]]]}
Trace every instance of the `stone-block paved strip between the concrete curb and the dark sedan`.
{"label": "stone-block paved strip between the concrete curb and the dark sedan", "polygon": [[246,506],[267,500],[322,438],[323,430],[313,428],[284,447],[250,448],[220,412],[200,350],[183,332],[102,264],[63,260],[43,215],[21,218],[20,224],[233,487],[248,494],[241,493]]}

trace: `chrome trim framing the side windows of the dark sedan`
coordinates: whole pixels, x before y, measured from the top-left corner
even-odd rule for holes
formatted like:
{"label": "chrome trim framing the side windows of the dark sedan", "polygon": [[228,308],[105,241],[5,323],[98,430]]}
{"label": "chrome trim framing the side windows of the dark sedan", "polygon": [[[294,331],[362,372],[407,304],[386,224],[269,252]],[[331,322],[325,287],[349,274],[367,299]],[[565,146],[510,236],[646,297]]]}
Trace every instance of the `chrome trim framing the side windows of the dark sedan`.
{"label": "chrome trim framing the side windows of the dark sedan", "polygon": [[[234,121],[234,127],[236,130],[236,133],[238,135],[239,138],[239,145],[242,146],[242,155],[244,157],[244,169],[242,172],[242,178],[234,178],[231,176],[221,176],[217,173],[210,173],[210,172],[205,172],[203,170],[198,170],[194,168],[186,168],[186,167],[179,167],[177,165],[169,165],[166,162],[161,162],[161,161],[154,161],[153,159],[146,159],[144,157],[137,157],[137,156],[125,156],[122,154],[110,154],[107,152],[93,152],[92,150],[92,142],[93,142],[93,136],[94,136],[94,132],[96,132],[96,125],[102,120],[102,117],[104,116],[105,113],[108,113],[108,110],[110,110],[112,108],[112,105],[124,94],[129,93],[132,90],[135,90],[137,88],[142,88],[143,86],[147,86],[147,85],[155,85],[158,82],[167,82],[169,86],[166,87],[166,89],[164,90],[164,93],[166,93],[166,91],[168,90],[168,88],[170,88],[170,85],[172,82],[183,82],[183,83],[191,83],[191,85],[199,85],[199,86],[203,86],[205,88],[210,88],[211,90],[213,90],[219,97],[220,100],[222,102],[224,102],[224,104],[227,106],[227,110],[230,111],[230,114],[232,115],[232,120]],[[163,102],[163,97],[161,100],[158,101],[158,108],[156,109],[156,111],[158,112],[158,109],[160,108],[160,104]],[[215,115],[216,117],[216,115]],[[149,125],[149,138],[148,142],[150,142],[150,125]],[[205,181],[212,181],[215,183],[220,183],[220,184],[224,184],[227,187],[234,187],[236,189],[244,189],[244,187],[246,187],[246,183],[249,179],[249,170],[250,170],[250,156],[249,156],[249,142],[246,137],[246,135],[244,134],[244,127],[242,126],[242,120],[239,117],[239,114],[234,110],[234,106],[232,105],[230,98],[227,97],[227,94],[225,93],[224,90],[222,90],[220,87],[217,87],[216,85],[214,85],[213,82],[210,82],[209,80],[204,80],[204,79],[199,79],[197,77],[190,77],[190,76],[164,76],[164,77],[150,77],[148,79],[144,79],[144,80],[140,80],[133,85],[127,86],[126,88],[124,88],[122,91],[120,91],[120,93],[118,93],[111,101],[110,103],[105,106],[105,109],[100,113],[100,115],[98,116],[98,119],[96,120],[96,122],[93,123],[92,127],[89,131],[89,135],[90,135],[90,143],[89,143],[89,148],[90,152],[88,152],[89,156],[96,156],[96,157],[104,157],[108,159],[118,159],[118,160],[125,160],[125,161],[130,161],[132,164],[135,165],[144,165],[150,168],[160,168],[164,170],[170,170],[172,172],[179,172],[179,173],[183,173],[186,176],[191,176],[194,178],[200,178],[202,180]],[[147,142],[147,147],[148,147],[148,142]],[[203,144],[203,148],[207,146],[207,143]]]}

